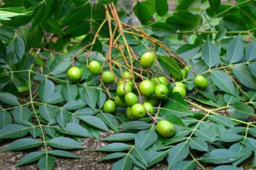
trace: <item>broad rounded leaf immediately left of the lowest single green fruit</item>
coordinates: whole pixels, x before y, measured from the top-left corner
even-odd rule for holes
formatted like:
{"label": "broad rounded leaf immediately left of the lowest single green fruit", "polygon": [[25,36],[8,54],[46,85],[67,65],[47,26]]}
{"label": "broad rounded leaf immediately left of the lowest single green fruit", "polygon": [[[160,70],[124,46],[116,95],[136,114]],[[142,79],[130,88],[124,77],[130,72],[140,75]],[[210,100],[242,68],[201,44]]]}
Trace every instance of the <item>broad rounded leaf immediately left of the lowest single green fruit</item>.
{"label": "broad rounded leaf immediately left of the lowest single green fruit", "polygon": [[157,140],[157,134],[154,132],[154,128],[150,130],[141,130],[135,136],[136,147],[146,149]]}

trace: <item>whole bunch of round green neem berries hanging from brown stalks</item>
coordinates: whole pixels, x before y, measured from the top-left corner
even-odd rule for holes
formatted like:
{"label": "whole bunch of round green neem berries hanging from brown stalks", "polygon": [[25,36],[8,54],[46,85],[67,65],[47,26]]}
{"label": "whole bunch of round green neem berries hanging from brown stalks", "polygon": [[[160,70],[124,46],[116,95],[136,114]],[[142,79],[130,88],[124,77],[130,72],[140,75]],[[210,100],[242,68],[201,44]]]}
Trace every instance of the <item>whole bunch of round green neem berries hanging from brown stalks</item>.
{"label": "whole bunch of round green neem berries hanging from brown stalks", "polygon": [[[154,63],[154,55],[151,52],[146,52],[141,56],[140,64],[143,69],[150,68]],[[97,61],[91,61],[89,70],[92,75],[101,74],[101,65]],[[182,69],[182,75],[187,77],[189,66]],[[133,80],[131,79],[133,77]],[[79,82],[82,78],[82,72],[78,67],[72,67],[68,71],[68,78],[71,82]],[[124,79],[123,79],[124,78]],[[166,77],[152,77],[151,80],[143,80],[139,84],[139,91],[143,95],[144,103],[138,103],[138,97],[132,92],[135,82],[135,76],[131,76],[128,71],[123,72],[123,78],[118,81],[116,88],[115,100],[107,100],[103,109],[107,113],[115,113],[116,107],[126,108],[126,115],[130,120],[138,120],[146,115],[154,115],[154,107],[158,101],[165,101],[168,99],[169,82]],[[106,84],[115,82],[115,76],[110,71],[104,71],[101,79]],[[134,81],[134,82],[133,82]],[[202,75],[195,77],[195,85],[200,89],[207,87],[207,80]],[[186,86],[182,82],[175,82],[175,87],[172,92],[179,92],[183,97],[186,97]],[[156,130],[164,138],[169,138],[174,134],[174,126],[171,122],[161,120],[156,125]]]}

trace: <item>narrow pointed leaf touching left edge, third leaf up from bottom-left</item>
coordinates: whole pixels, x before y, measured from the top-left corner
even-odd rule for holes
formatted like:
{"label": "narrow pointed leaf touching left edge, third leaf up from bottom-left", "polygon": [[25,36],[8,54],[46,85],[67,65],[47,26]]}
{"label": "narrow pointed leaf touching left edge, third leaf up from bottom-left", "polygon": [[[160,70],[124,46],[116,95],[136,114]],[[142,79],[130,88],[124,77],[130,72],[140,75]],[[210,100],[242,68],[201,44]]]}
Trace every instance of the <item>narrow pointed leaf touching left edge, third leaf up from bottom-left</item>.
{"label": "narrow pointed leaf touching left edge, third leaf up from bottom-left", "polygon": [[31,138],[17,139],[14,142],[10,143],[3,150],[1,150],[1,152],[8,151],[8,150],[29,149],[29,148],[34,148],[40,145],[42,145],[42,141],[40,140],[31,139]]}

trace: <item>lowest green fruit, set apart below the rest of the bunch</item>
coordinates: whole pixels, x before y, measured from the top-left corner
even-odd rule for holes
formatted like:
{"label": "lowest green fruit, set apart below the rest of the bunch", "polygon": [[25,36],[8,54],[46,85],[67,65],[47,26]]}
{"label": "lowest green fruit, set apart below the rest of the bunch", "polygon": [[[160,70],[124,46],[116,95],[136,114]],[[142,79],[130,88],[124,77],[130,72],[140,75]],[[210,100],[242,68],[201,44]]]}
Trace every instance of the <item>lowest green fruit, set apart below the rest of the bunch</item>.
{"label": "lowest green fruit, set apart below the rest of the bunch", "polygon": [[170,138],[175,130],[171,122],[167,120],[161,120],[156,125],[156,131],[164,138]]}

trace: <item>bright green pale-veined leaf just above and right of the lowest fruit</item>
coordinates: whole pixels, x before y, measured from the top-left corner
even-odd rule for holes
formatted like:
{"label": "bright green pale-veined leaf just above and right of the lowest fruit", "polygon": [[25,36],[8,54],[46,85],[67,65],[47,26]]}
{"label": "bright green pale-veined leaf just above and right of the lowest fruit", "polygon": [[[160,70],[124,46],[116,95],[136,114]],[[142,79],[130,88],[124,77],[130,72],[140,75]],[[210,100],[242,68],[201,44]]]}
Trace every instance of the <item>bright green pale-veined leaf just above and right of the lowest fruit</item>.
{"label": "bright green pale-veined leaf just above and right of the lowest fruit", "polygon": [[160,115],[176,115],[178,117],[186,117],[192,115],[187,107],[178,102],[169,102],[164,107],[159,108]]}

